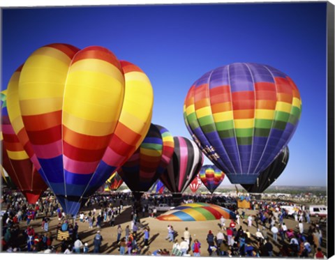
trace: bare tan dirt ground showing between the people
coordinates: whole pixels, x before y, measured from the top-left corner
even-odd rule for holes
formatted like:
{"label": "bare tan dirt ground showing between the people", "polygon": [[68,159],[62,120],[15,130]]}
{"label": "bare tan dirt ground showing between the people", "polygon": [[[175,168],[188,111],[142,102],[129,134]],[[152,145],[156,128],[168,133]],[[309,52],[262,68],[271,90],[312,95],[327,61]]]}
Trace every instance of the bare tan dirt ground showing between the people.
{"label": "bare tan dirt ground showing between the people", "polygon": [[[246,216],[251,214],[254,215],[256,211],[251,210],[245,210]],[[99,212],[100,209],[97,208],[97,212]],[[241,209],[239,209],[239,213],[241,213]],[[88,211],[83,211],[85,215],[87,215]],[[158,213],[159,215],[159,213]],[[311,217],[312,221],[315,221],[316,219]],[[44,234],[45,231],[41,228],[41,217],[38,217],[37,220],[34,220],[31,222],[33,225],[36,233]],[[89,229],[89,223],[87,222],[80,222],[79,218],[76,220],[77,224],[79,225],[79,236],[80,240],[82,240],[82,243],[88,243],[89,245],[89,252],[93,252],[93,240],[94,236],[96,235],[97,228],[94,227],[93,229]],[[200,243],[202,244],[202,251],[201,256],[208,257],[209,254],[207,252],[207,234],[208,231],[211,230],[214,233],[214,236],[218,233],[218,231],[221,229],[220,227],[220,220],[209,220],[209,221],[200,221],[200,222],[166,222],[157,220],[156,218],[149,217],[148,215],[144,215],[144,217],[141,217],[141,226],[142,228],[149,226],[150,228],[150,238],[149,238],[149,247],[143,248],[144,245],[144,239],[143,239],[143,231],[140,229],[139,232],[137,232],[137,244],[140,245],[142,249],[142,254],[150,254],[151,252],[154,252],[158,249],[166,249],[168,251],[172,251],[172,243],[169,243],[168,240],[165,240],[166,236],[168,235],[168,224],[171,224],[174,227],[174,230],[177,231],[177,240],[179,240],[179,243],[181,241],[181,236],[184,234],[185,227],[188,227],[188,230],[191,233],[192,240],[195,240],[195,238],[198,238]],[[289,219],[284,220],[285,224],[287,225],[288,229],[297,229],[297,222],[290,217]],[[229,226],[230,220],[226,220],[225,224],[226,226]],[[52,236],[56,238],[56,229],[58,224],[58,218],[52,217],[52,220],[50,222],[50,231],[52,232]],[[103,243],[101,246],[101,253],[102,254],[115,254],[118,255],[118,245],[116,243],[117,241],[117,225],[121,224],[121,228],[124,230],[127,225],[131,227],[131,206],[124,206],[123,211],[116,217],[115,219],[115,225],[114,227],[110,227],[110,224],[108,222],[104,222],[101,227],[101,235],[103,236]],[[253,227],[247,227],[246,221],[245,223],[243,220],[240,220],[240,224],[242,225],[243,229],[249,229],[250,233],[253,235],[256,232],[255,223],[253,223]],[[21,222],[20,228],[24,230],[27,227],[26,222]],[[304,230],[307,231],[309,227],[309,224],[304,223]],[[239,225],[237,225],[237,229],[239,228]],[[325,229],[325,227],[323,228]],[[272,240],[271,232],[268,230],[269,238],[271,243],[274,245],[274,256],[278,255],[278,243],[274,243],[274,240]],[[325,231],[324,231],[325,232]],[[123,233],[124,236],[124,233]],[[326,234],[323,234],[323,245],[322,245],[322,251],[325,252],[325,245],[327,243],[326,241]],[[278,236],[278,240],[280,240]],[[24,241],[22,241],[24,243]],[[52,245],[56,247],[58,250],[60,249],[60,241],[57,241],[54,239]],[[192,253],[191,253],[192,254]]]}

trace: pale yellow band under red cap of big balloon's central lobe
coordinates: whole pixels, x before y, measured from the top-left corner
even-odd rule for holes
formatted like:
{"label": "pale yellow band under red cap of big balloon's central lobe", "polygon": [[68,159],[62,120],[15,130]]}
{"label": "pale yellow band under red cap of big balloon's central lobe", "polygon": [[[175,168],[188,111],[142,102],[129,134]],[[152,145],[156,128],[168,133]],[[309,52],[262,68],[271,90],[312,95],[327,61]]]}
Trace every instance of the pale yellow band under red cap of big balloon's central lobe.
{"label": "pale yellow band under red cap of big balloon's central lobe", "polygon": [[117,81],[119,82],[124,82],[124,75],[122,74],[122,72],[113,64],[107,61],[103,61],[101,59],[82,59],[80,61],[76,61],[71,65],[69,75],[74,72],[103,73],[117,79]]}

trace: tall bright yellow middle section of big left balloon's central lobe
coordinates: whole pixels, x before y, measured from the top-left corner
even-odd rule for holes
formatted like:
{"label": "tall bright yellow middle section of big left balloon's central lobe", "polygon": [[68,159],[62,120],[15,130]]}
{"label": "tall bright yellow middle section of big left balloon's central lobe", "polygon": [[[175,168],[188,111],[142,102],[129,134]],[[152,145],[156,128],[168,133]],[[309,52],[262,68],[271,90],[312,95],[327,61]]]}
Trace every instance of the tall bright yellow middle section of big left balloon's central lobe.
{"label": "tall bright yellow middle section of big left balloon's central lobe", "polygon": [[124,100],[123,83],[98,72],[69,73],[63,110],[89,121],[117,121]]}

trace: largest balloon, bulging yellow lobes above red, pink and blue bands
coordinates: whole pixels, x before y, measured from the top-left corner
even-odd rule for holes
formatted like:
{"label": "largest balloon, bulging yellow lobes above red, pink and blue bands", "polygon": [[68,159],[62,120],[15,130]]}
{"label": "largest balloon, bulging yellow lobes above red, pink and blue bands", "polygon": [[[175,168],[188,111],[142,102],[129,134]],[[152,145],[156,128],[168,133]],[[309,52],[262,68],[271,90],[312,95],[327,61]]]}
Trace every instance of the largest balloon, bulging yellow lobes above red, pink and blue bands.
{"label": "largest balloon, bulging yellow lobes above red, pink and blue bands", "polygon": [[128,160],[150,126],[147,75],[104,47],[40,47],[9,91],[16,95],[8,112],[20,111],[27,133],[20,140],[70,215]]}

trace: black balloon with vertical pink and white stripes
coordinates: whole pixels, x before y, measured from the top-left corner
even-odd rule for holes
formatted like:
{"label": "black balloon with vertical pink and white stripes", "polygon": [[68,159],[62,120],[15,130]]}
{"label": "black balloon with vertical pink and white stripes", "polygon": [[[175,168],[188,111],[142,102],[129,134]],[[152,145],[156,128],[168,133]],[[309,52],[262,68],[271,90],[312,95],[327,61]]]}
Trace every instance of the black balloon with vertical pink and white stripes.
{"label": "black balloon with vertical pink and white stripes", "polygon": [[173,156],[160,178],[172,194],[181,194],[199,173],[204,155],[192,140],[186,137],[173,139]]}

